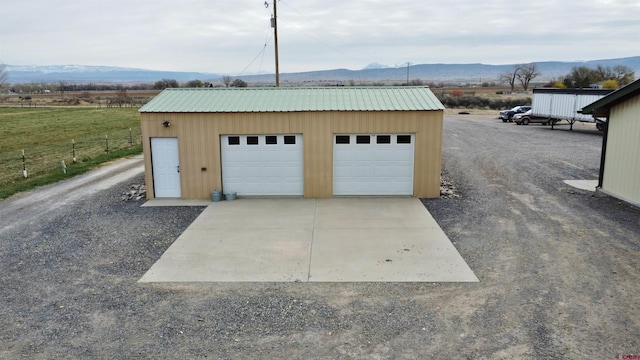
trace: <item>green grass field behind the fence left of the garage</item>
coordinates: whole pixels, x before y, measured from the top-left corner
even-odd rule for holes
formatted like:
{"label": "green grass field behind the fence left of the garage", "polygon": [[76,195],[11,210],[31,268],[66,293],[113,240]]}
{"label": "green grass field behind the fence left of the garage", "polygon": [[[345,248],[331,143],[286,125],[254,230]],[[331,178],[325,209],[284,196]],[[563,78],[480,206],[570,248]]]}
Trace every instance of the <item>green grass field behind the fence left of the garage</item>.
{"label": "green grass field behind the fence left of the garage", "polygon": [[0,199],[141,152],[137,108],[0,108],[0,129]]}

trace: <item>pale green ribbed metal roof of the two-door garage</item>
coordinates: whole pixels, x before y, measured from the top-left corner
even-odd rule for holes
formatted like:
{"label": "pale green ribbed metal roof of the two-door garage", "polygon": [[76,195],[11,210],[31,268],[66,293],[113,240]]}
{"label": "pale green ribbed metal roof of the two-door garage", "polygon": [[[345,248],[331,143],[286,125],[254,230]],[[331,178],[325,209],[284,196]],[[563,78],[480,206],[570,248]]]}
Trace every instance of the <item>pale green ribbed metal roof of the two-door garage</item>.
{"label": "pale green ribbed metal roof of the two-door garage", "polygon": [[166,89],[140,112],[443,110],[427,87]]}

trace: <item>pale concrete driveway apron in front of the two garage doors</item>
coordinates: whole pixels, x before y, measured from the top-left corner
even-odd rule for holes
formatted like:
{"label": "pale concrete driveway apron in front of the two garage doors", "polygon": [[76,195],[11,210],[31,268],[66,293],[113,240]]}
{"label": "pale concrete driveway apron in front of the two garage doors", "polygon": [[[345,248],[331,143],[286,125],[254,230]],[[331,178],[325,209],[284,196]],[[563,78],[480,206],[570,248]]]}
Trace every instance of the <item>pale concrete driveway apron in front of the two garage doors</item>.
{"label": "pale concrete driveway apron in front of the two garage doors", "polygon": [[211,203],[140,282],[476,282],[416,198]]}

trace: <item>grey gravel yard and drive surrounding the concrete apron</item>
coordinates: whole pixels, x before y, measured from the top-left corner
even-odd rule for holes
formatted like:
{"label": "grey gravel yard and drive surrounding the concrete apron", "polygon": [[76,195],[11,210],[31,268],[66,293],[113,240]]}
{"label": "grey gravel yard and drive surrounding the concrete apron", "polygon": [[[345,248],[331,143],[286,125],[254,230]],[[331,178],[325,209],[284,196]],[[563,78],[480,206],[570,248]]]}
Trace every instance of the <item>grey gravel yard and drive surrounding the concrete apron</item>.
{"label": "grey gravel yard and drive surrounding the concrete apron", "polygon": [[25,207],[0,219],[0,358],[638,354],[640,210],[562,183],[598,174],[602,135],[575,128],[445,117],[459,197],[424,203],[479,283],[139,284],[203,208],[123,202],[142,175]]}

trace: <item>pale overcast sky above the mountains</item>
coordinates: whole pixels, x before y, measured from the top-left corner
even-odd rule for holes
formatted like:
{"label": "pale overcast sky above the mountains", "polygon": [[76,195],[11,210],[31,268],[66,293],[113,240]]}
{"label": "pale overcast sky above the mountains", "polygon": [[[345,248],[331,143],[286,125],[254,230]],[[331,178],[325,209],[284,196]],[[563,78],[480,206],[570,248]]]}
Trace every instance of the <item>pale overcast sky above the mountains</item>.
{"label": "pale overcast sky above the mountains", "polygon": [[[280,0],[277,11],[282,73],[640,55],[640,0]],[[272,14],[273,0],[0,0],[0,63],[273,73]]]}

